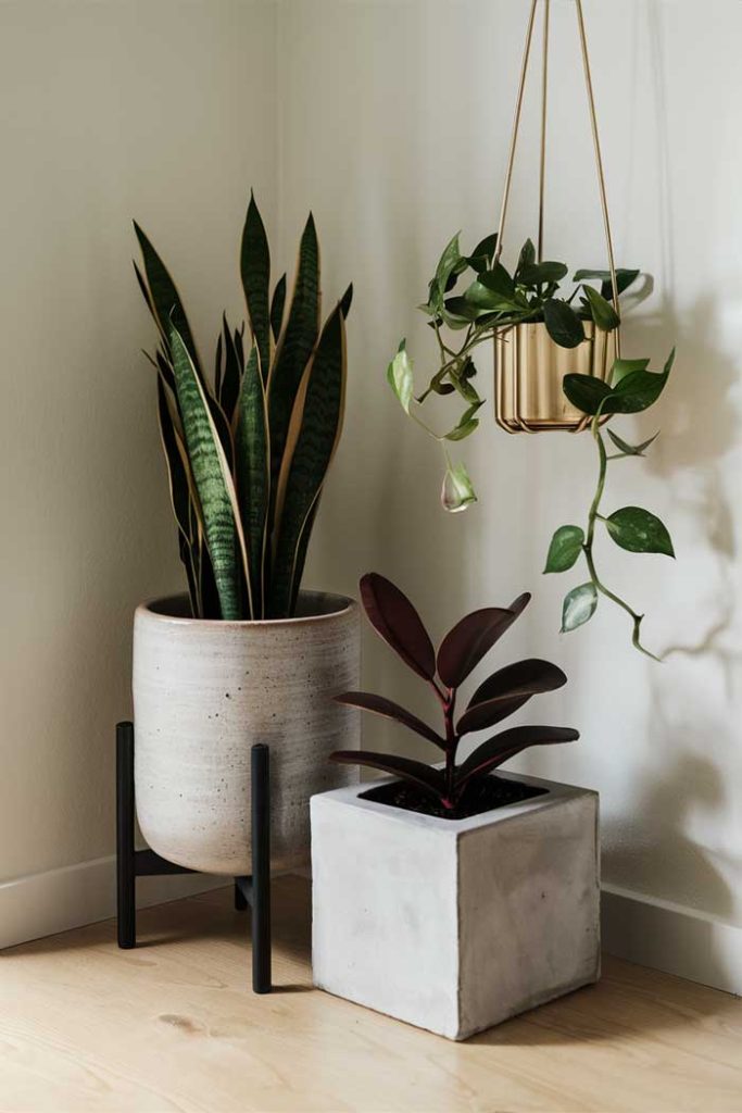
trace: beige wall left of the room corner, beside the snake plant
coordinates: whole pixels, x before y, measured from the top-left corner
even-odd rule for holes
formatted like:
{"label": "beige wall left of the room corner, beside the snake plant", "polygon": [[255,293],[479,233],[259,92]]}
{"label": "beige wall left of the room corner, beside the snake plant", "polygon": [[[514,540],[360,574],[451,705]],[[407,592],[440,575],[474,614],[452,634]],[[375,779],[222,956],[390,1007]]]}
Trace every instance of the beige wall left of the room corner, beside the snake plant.
{"label": "beige wall left of the room corner, beside the snake plant", "polygon": [[210,351],[250,185],[275,224],[274,17],[0,4],[0,881],[112,851],[131,612],[180,582],[130,220]]}

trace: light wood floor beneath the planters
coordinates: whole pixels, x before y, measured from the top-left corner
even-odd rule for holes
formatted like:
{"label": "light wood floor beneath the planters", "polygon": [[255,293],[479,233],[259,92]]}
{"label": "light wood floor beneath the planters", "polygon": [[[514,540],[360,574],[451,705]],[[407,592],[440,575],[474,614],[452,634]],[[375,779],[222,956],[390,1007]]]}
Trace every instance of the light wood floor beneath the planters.
{"label": "light wood floor beneath the planters", "polygon": [[606,959],[602,982],[454,1044],[310,988],[308,886],[275,884],[269,997],[217,890],[0,955],[2,1113],[740,1113],[742,1002]]}

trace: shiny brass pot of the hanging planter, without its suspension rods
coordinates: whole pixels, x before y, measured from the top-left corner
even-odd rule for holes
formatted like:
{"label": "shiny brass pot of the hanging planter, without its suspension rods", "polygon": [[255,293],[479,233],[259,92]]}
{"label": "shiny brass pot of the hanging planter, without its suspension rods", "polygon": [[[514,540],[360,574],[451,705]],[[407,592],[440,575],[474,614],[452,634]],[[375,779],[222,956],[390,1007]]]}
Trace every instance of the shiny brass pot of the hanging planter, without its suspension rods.
{"label": "shiny brass pot of the hanging planter, without its suspension rods", "polygon": [[590,417],[562,390],[565,375],[607,380],[616,357],[616,333],[585,321],[585,339],[560,347],[543,322],[514,325],[495,339],[495,421],[508,433],[547,430],[578,433]]}

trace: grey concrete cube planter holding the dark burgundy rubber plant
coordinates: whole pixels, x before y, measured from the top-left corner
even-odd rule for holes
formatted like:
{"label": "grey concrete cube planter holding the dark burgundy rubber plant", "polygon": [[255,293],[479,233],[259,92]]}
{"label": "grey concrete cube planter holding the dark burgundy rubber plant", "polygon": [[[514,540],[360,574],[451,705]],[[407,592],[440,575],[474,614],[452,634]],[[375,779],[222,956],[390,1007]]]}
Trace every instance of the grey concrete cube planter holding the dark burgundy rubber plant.
{"label": "grey concrete cube planter holding the dark burgundy rubber plant", "polygon": [[313,797],[315,985],[466,1040],[597,979],[597,794],[498,776],[545,791],[459,820]]}

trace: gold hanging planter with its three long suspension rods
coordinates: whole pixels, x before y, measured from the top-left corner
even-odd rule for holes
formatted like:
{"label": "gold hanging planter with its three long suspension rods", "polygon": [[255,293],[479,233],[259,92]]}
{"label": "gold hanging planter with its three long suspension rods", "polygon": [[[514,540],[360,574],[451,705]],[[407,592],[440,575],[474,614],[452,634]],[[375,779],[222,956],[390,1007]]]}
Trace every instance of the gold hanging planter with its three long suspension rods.
{"label": "gold hanging planter with its three long suspension rods", "polygon": [[[542,0],[544,4],[543,22],[543,62],[541,80],[541,159],[538,180],[538,245],[537,259],[543,258],[544,240],[544,183],[546,167],[546,104],[548,86],[548,20],[551,0]],[[528,26],[526,30],[525,50],[521,67],[521,80],[515,106],[515,119],[511,138],[505,186],[503,189],[499,224],[497,228],[497,246],[495,263],[503,249],[503,233],[507,215],[515,147],[521,122],[523,93],[528,70],[533,28],[538,0],[532,0]],[[619,287],[613,257],[611,223],[609,219],[603,160],[597,134],[595,102],[590,72],[590,58],[583,20],[582,2],[575,0],[577,29],[582,50],[583,71],[590,108],[590,120],[597,169],[597,185],[603,211],[603,225],[609,256],[609,270],[613,292],[613,304],[619,312]],[[543,322],[530,322],[513,325],[498,333],[495,337],[495,421],[508,433],[544,433],[548,431],[580,433],[586,429],[590,418],[576,410],[567,401],[562,382],[565,375],[594,375],[607,381],[613,362],[621,357],[620,328],[604,332],[592,321],[583,322],[585,339],[576,347],[566,348],[556,344],[548,335]]]}

